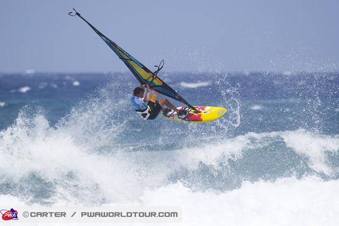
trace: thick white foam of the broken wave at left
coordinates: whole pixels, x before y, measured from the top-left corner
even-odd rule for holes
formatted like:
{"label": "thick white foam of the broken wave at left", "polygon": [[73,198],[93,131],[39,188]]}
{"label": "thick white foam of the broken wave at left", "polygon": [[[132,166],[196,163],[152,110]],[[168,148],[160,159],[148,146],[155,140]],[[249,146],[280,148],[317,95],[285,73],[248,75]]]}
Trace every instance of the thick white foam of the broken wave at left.
{"label": "thick white foam of the broken wave at left", "polygon": [[[29,129],[30,127],[32,128]],[[62,130],[55,131],[49,127],[48,121],[43,116],[37,116],[33,121],[19,117],[16,125],[2,131],[0,137],[0,153],[4,154],[0,160],[2,171],[0,182],[25,180],[34,172],[37,177],[59,184],[56,197],[64,197],[66,200],[71,199],[70,195],[73,192],[77,193],[78,198],[82,197],[82,200],[88,201],[99,200],[100,197],[109,200],[128,200],[130,197],[135,198],[133,194],[138,194],[130,190],[142,183],[134,174],[137,165],[130,167],[128,159],[123,157],[102,158],[96,154],[86,153],[88,149],[85,143],[84,146],[78,145],[74,140],[76,137],[72,134],[65,134]],[[13,165],[14,155],[16,157]],[[69,174],[73,175],[71,180],[67,180]],[[114,181],[108,181],[108,175],[114,178]],[[95,191],[95,184],[100,184],[99,191]],[[88,192],[93,194],[89,195]]]}

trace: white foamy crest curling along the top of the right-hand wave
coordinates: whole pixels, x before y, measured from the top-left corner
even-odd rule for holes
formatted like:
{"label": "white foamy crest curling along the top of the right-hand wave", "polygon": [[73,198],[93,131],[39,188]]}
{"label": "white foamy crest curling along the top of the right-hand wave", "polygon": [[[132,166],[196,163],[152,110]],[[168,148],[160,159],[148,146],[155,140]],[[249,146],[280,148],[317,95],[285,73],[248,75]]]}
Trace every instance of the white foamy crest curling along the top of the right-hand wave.
{"label": "white foamy crest curling along the top of the right-hand wave", "polygon": [[247,149],[267,147],[280,139],[283,139],[285,145],[295,153],[307,156],[309,167],[314,171],[333,176],[334,172],[327,165],[325,152],[339,152],[339,135],[317,135],[305,130],[247,133],[220,142],[200,145],[199,149],[185,148],[178,151],[176,162],[180,162],[180,166],[190,170],[196,170],[200,162],[219,168],[220,163],[226,163],[223,159],[240,158],[243,151]]}

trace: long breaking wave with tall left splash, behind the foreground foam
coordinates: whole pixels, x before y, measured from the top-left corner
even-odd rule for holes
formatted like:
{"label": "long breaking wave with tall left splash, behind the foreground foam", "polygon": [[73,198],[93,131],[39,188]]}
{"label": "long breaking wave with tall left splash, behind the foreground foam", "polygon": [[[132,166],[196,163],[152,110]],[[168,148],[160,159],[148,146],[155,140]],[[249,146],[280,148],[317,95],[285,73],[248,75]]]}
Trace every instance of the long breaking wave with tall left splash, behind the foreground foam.
{"label": "long breaking wave with tall left splash, behind the foreground foam", "polygon": [[171,151],[161,145],[157,151],[130,151],[133,144],[122,147],[114,139],[125,124],[106,125],[103,108],[116,105],[86,104],[56,127],[41,112],[31,117],[22,111],[0,132],[0,194],[14,192],[26,203],[103,204],[135,201],[149,188],[179,181],[193,191],[226,192],[246,180],[338,177],[330,157],[338,155],[339,136],[305,130],[247,133]]}

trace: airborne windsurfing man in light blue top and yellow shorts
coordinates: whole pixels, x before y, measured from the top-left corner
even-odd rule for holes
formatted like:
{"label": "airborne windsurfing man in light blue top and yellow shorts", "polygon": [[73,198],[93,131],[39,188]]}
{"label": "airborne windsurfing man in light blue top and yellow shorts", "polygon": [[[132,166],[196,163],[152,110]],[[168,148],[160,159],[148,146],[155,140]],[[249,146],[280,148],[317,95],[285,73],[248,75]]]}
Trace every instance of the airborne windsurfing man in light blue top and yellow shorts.
{"label": "airborne windsurfing man in light blue top and yellow shorts", "polygon": [[[145,120],[155,119],[160,111],[166,115],[171,112],[171,110],[178,113],[179,117],[186,116],[189,112],[184,110],[176,109],[170,101],[166,98],[158,100],[157,95],[153,94],[149,98],[149,86],[142,85],[143,88],[137,87],[133,91],[133,97],[131,98],[132,104],[135,108],[135,111],[141,115]],[[144,89],[146,87],[146,95],[144,97]],[[167,108],[165,108],[165,106]]]}

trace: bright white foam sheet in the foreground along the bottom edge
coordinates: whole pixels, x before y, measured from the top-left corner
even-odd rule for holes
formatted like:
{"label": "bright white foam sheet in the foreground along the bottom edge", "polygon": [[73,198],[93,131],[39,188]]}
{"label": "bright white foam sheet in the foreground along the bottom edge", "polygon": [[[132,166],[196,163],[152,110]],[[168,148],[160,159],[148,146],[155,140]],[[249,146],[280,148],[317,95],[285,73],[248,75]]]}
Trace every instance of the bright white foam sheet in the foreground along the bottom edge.
{"label": "bright white foam sheet in the foreground along the bottom edge", "polygon": [[[119,204],[179,206],[182,208],[182,221],[175,225],[337,225],[338,187],[339,180],[291,177],[273,182],[243,181],[239,189],[227,192],[194,192],[178,182],[146,190],[137,203],[111,203],[103,209]],[[11,195],[0,196],[0,201],[11,207],[23,204]],[[54,204],[61,205],[64,203]]]}

